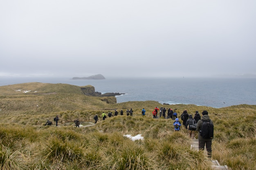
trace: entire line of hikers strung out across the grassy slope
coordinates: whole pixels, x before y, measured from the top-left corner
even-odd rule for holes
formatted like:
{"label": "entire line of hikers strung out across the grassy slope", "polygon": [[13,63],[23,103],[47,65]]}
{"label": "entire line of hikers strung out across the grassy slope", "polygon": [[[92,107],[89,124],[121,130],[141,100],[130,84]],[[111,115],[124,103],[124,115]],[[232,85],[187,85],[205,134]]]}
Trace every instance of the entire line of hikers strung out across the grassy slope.
{"label": "entire line of hikers strung out across the grassy slope", "polygon": [[[166,109],[165,108],[160,108],[158,109],[158,107],[155,107],[153,113],[153,118],[157,118],[157,113],[158,111],[160,112],[160,117],[166,117]],[[141,110],[141,114],[142,116],[145,116],[146,110],[143,108]],[[127,109],[126,111],[126,115],[127,116],[132,116],[133,114],[133,110],[132,109]],[[115,110],[114,116],[118,115],[118,111]],[[123,110],[121,109],[120,111],[120,115],[124,115]],[[101,117],[103,118],[103,120],[105,120],[106,113],[103,111],[103,113],[101,114]],[[112,112],[108,113],[108,117],[112,117]],[[181,124],[179,121],[179,118],[177,118],[177,113],[176,111],[173,112],[173,109],[168,109],[167,111],[167,119],[171,118],[173,120],[175,120],[175,122],[173,122],[173,126],[174,126],[174,130],[175,131],[180,131],[180,126],[182,126],[182,124],[185,126],[186,129],[189,130],[189,137],[195,139],[195,131],[198,131],[198,146],[200,150],[204,150],[204,146],[206,145],[206,150],[207,150],[207,154],[208,157],[211,158],[211,141],[213,138],[213,121],[209,118],[208,116],[208,111],[202,111],[202,118],[200,116],[200,114],[198,113],[198,111],[195,111],[195,116],[193,117],[192,115],[189,115],[189,113],[187,112],[187,110],[184,110],[183,113],[181,114],[181,119],[183,120],[183,123]],[[95,123],[97,123],[97,121],[99,120],[98,116],[95,115],[94,116],[94,120]],[[56,122],[56,126],[58,126],[58,115],[56,116],[56,118],[54,118],[54,121]],[[79,120],[75,120],[75,125],[76,127],[80,126],[80,122]],[[52,122],[47,120],[47,122],[45,123],[46,125],[52,125]]]}

